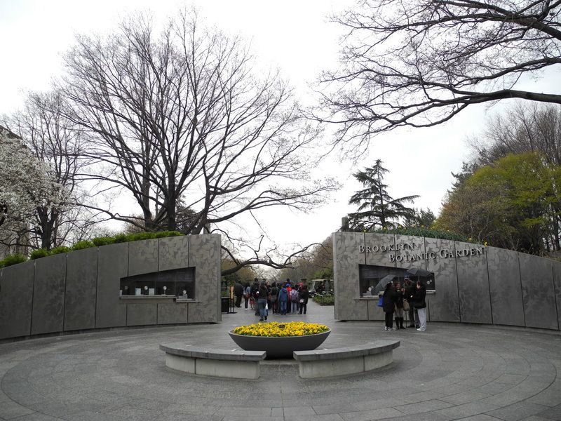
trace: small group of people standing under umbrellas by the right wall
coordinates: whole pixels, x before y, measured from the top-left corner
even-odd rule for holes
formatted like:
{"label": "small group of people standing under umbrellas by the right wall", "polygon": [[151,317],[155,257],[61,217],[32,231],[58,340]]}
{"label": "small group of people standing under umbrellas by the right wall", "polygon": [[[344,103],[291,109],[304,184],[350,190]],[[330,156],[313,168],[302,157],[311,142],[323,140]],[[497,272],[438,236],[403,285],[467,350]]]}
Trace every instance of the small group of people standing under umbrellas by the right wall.
{"label": "small group of people standing under umbrellas by the right wall", "polygon": [[[405,329],[403,314],[407,312],[410,328],[417,328],[419,332],[426,330],[426,288],[421,281],[412,283],[405,277],[404,285],[389,282],[384,290],[381,307],[386,315],[384,330]],[[395,316],[394,316],[395,315]],[[396,328],[393,328],[395,317]]]}

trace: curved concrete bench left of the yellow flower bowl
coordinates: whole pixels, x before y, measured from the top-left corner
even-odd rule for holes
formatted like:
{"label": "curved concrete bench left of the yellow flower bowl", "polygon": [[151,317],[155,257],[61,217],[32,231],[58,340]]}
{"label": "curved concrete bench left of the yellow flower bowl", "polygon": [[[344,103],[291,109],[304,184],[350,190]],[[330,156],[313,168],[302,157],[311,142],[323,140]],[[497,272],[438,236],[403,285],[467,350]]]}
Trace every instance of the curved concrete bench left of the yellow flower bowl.
{"label": "curved concrete bench left of the yellow flower bowl", "polygon": [[174,370],[236,379],[259,378],[259,361],[266,356],[264,351],[210,349],[182,343],[161,344],[160,349],[165,352],[165,365]]}

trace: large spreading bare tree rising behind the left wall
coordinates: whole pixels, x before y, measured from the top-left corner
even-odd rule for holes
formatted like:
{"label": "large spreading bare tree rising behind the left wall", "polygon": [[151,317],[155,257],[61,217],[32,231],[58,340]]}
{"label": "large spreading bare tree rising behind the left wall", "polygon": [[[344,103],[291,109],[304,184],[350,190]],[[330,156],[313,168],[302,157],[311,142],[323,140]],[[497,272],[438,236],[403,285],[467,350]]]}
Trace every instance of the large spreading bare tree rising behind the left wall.
{"label": "large spreading bare tree rising behind the left wall", "polygon": [[310,209],[337,187],[309,181],[318,131],[286,83],[257,76],[241,41],[198,27],[195,13],[161,32],[135,16],[107,38],[79,36],[65,62],[71,118],[105,169],[85,176],[124,189],[142,213],[98,209],[111,218],[198,234],[267,206]]}

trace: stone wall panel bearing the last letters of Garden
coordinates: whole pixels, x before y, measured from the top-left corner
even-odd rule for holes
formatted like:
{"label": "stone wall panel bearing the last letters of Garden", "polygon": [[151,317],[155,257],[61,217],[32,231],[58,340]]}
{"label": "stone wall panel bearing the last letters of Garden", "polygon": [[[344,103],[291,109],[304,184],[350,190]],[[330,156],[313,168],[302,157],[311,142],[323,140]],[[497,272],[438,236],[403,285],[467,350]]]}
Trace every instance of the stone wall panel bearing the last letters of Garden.
{"label": "stone wall panel bearing the last letters of Garden", "polygon": [[456,241],[456,265],[461,321],[492,323],[485,247]]}

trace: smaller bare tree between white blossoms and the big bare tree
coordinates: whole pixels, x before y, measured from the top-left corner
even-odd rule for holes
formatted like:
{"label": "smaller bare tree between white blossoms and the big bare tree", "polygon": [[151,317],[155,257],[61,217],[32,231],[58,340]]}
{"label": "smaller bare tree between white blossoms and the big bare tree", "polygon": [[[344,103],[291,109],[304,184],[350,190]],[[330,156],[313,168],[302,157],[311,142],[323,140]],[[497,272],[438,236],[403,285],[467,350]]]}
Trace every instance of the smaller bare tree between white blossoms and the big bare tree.
{"label": "smaller bare tree between white blossoms and the big bare tree", "polygon": [[53,180],[65,191],[64,206],[43,203],[23,236],[33,248],[61,246],[86,236],[95,218],[79,206],[86,194],[79,188],[84,158],[83,132],[65,116],[65,101],[58,92],[29,93],[25,107],[7,123],[34,156],[50,168]]}

